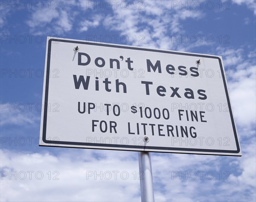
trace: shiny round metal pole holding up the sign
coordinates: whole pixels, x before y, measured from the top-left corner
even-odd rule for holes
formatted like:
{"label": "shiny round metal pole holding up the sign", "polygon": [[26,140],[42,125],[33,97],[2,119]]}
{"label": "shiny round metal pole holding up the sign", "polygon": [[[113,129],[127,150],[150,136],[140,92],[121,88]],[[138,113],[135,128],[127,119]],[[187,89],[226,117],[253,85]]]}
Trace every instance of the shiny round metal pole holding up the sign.
{"label": "shiny round metal pole holding up the sign", "polygon": [[154,202],[153,177],[149,152],[139,152],[139,167],[141,201]]}

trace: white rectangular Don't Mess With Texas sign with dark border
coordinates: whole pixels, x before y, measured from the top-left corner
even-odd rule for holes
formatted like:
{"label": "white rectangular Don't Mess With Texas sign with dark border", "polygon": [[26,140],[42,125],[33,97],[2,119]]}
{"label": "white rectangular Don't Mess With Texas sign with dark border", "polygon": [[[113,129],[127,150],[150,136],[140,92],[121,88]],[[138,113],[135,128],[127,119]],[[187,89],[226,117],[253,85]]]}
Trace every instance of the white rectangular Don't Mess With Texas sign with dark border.
{"label": "white rectangular Don't Mess With Texas sign with dark border", "polygon": [[47,38],[41,146],[241,156],[221,57]]}

